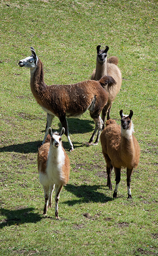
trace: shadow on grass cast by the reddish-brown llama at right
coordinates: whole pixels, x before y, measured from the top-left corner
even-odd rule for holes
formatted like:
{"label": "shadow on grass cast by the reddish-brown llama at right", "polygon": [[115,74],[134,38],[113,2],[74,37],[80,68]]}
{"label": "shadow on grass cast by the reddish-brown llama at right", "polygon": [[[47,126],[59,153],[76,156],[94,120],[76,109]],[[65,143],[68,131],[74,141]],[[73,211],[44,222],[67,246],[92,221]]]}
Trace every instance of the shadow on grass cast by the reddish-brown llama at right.
{"label": "shadow on grass cast by the reddish-brown llama at right", "polygon": [[65,189],[69,191],[70,193],[73,193],[78,200],[68,200],[64,203],[67,203],[68,205],[74,205],[76,203],[89,203],[89,202],[95,202],[95,203],[107,203],[108,201],[112,201],[113,198],[107,197],[105,194],[98,192],[98,189],[104,188],[105,186],[100,185],[80,185],[80,186],[74,186],[71,184],[67,184],[65,186]]}

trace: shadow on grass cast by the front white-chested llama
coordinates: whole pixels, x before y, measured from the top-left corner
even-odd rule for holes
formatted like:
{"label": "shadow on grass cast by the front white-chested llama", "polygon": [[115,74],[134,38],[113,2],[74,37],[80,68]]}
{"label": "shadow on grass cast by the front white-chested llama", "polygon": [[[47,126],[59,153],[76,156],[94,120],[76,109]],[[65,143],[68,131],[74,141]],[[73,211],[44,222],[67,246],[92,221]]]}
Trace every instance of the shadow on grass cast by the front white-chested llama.
{"label": "shadow on grass cast by the front white-chested llama", "polygon": [[19,210],[0,209],[0,214],[4,219],[0,223],[0,228],[24,223],[36,223],[42,219],[38,213],[33,213],[34,208],[21,208]]}

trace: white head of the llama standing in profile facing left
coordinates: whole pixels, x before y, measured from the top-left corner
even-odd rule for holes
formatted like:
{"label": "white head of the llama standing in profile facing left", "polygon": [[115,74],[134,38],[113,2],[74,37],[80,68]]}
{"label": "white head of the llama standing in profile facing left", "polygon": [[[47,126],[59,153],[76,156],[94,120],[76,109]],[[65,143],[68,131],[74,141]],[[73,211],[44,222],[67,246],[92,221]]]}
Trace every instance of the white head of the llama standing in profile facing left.
{"label": "white head of the llama standing in profile facing left", "polygon": [[37,67],[38,57],[37,57],[37,55],[35,53],[35,49],[33,47],[31,47],[31,52],[32,52],[31,56],[21,59],[19,61],[18,64],[21,68],[22,67],[25,67],[25,68],[36,68]]}

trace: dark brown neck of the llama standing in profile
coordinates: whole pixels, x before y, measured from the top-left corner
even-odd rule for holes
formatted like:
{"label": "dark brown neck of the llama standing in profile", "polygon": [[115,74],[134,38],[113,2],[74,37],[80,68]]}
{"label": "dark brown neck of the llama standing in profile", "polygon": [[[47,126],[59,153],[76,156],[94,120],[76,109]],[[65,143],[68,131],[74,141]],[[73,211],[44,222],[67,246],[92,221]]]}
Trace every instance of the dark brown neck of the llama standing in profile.
{"label": "dark brown neck of the llama standing in profile", "polygon": [[[38,59],[36,68],[30,69],[30,86],[33,96],[37,101],[40,100],[47,86],[44,82],[44,73],[42,62]],[[39,102],[38,102],[39,103]]]}

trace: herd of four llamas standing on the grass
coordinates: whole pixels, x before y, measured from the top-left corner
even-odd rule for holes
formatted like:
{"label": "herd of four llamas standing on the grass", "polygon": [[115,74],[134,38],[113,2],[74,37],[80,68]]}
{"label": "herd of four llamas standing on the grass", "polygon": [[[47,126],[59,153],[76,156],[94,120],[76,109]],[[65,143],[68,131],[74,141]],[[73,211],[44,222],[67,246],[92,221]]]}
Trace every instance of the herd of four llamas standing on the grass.
{"label": "herd of four llamas standing on the grass", "polygon": [[[134,126],[131,121],[133,111],[124,115],[120,111],[121,126],[110,119],[112,102],[121,88],[121,71],[118,68],[118,58],[107,58],[108,46],[105,50],[97,46],[97,63],[91,80],[70,85],[47,86],[44,82],[43,64],[31,47],[32,55],[19,61],[20,67],[30,68],[30,87],[37,103],[47,113],[46,133],[42,145],[38,149],[37,161],[39,180],[43,186],[46,215],[51,207],[52,193],[55,188],[55,217],[58,219],[58,202],[63,185],[69,181],[70,160],[66,154],[61,137],[67,136],[70,151],[74,150],[70,140],[66,117],[79,117],[89,110],[95,123],[95,129],[88,145],[97,145],[99,138],[102,154],[107,164],[107,186],[112,190],[111,172],[114,168],[116,185],[113,198],[117,197],[118,185],[121,179],[121,167],[127,169],[128,198],[132,198],[130,190],[131,174],[139,163],[139,144],[133,135]],[[100,114],[102,112],[102,118]],[[52,132],[51,123],[57,116],[62,125],[61,131]],[[105,122],[105,117],[107,121]],[[95,142],[94,137],[97,133]]]}

